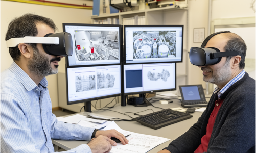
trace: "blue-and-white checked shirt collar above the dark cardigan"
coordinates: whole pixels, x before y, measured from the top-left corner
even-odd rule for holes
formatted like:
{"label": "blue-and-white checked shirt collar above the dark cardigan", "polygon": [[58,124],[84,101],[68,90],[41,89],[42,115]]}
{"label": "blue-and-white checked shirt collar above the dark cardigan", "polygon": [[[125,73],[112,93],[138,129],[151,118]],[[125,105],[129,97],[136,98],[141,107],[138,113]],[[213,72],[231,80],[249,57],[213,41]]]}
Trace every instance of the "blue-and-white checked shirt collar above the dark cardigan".
{"label": "blue-and-white checked shirt collar above the dark cardigan", "polygon": [[218,93],[218,98],[220,99],[220,96],[227,91],[227,89],[232,86],[233,84],[235,84],[237,81],[239,81],[240,79],[242,79],[244,77],[245,71],[243,70],[242,72],[240,72],[236,77],[234,77],[233,79],[231,79],[222,89],[220,89],[218,86],[214,89],[214,94]]}

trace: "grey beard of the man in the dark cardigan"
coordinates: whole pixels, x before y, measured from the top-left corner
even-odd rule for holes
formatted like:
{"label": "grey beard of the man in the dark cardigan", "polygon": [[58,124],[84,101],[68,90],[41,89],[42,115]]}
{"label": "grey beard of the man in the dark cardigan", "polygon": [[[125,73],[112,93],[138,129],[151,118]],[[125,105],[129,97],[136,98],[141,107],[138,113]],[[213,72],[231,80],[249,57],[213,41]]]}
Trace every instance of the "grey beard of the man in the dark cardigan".
{"label": "grey beard of the man in the dark cardigan", "polygon": [[227,61],[223,65],[223,67],[216,69],[215,71],[213,71],[211,68],[208,68],[208,67],[202,67],[201,68],[202,70],[212,72],[212,77],[208,78],[206,75],[204,75],[203,81],[210,82],[210,83],[213,83],[216,85],[222,85],[222,84],[226,83],[231,77],[231,68],[229,65],[229,61],[230,60],[227,59]]}

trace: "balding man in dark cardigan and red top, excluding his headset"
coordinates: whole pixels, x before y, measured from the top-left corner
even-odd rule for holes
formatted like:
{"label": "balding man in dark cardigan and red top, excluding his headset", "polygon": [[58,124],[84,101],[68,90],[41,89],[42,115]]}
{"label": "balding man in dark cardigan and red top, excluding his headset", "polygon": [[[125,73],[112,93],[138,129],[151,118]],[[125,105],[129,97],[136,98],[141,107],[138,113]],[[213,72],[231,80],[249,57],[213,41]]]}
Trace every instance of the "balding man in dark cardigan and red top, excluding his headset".
{"label": "balding man in dark cardigan and red top, excluding his headset", "polygon": [[[244,40],[234,33],[213,36],[208,47],[246,55]],[[244,71],[244,61],[238,55],[198,66],[203,80],[217,87],[198,121],[158,153],[256,152],[256,81]]]}

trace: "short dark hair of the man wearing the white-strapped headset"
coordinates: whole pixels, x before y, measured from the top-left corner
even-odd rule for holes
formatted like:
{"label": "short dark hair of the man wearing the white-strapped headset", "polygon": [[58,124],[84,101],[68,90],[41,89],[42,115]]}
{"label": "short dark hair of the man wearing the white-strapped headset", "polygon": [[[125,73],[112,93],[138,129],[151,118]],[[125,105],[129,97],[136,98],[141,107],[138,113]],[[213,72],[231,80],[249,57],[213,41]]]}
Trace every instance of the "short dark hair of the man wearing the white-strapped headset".
{"label": "short dark hair of the man wearing the white-strapped headset", "polygon": [[[11,38],[21,38],[25,36],[36,36],[38,33],[36,28],[37,23],[44,23],[51,27],[54,31],[57,30],[57,27],[52,19],[28,13],[20,17],[16,17],[10,22],[5,40],[7,41]],[[36,44],[29,45],[31,45],[33,49],[36,48]],[[18,61],[20,59],[21,53],[18,46],[9,47],[9,53],[13,60]]]}

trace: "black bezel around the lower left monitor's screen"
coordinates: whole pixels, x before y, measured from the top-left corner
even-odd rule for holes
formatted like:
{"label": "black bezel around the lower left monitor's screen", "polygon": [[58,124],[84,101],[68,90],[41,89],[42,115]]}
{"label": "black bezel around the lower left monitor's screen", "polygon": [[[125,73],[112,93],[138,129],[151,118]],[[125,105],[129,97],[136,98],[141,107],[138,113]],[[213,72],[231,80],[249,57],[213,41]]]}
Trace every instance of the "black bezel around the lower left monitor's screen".
{"label": "black bezel around the lower left monitor's screen", "polygon": [[[120,65],[120,73],[121,73],[121,78],[120,78],[120,84],[121,84],[121,90],[119,94],[111,94],[111,95],[107,95],[107,96],[100,96],[100,97],[95,97],[95,98],[89,98],[89,99],[83,99],[83,100],[76,100],[76,101],[71,101],[69,102],[68,99],[68,77],[67,77],[67,69],[68,68],[80,68],[80,67],[65,67],[65,76],[66,76],[66,101],[67,101],[67,105],[72,105],[72,104],[78,104],[78,103],[86,103],[88,101],[92,101],[92,100],[100,100],[100,99],[105,99],[105,98],[111,98],[111,97],[117,97],[117,96],[121,96],[122,95],[122,89],[123,89],[123,84],[122,84],[122,65],[121,64],[115,64],[115,65]],[[113,65],[100,65],[100,66],[113,66]],[[83,66],[83,67],[96,67],[96,66]]]}

